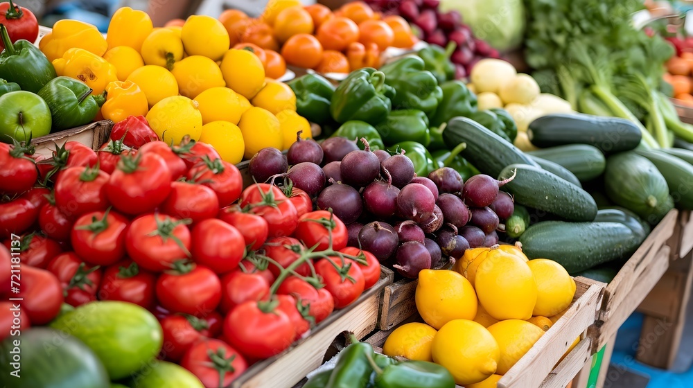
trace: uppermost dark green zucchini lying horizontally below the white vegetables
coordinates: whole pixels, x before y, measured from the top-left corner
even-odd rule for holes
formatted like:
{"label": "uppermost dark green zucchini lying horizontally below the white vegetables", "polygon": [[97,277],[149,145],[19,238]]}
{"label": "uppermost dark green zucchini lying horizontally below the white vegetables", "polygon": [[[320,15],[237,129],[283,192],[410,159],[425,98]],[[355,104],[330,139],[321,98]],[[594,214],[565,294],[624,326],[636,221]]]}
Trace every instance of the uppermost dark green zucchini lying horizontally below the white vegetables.
{"label": "uppermost dark green zucchini lying horizontally below the white vegetables", "polygon": [[640,129],[624,118],[574,113],[536,118],[529,123],[527,136],[539,148],[578,143],[612,153],[633,150],[642,139]]}

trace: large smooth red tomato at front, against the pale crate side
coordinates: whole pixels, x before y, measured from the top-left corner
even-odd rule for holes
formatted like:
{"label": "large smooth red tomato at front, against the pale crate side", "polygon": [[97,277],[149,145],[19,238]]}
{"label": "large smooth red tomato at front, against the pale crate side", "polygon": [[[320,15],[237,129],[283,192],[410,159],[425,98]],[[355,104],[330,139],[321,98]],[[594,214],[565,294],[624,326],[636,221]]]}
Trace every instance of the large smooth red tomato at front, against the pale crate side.
{"label": "large smooth red tomato at front, against the pale crate side", "polygon": [[224,337],[244,355],[269,358],[294,342],[296,330],[291,319],[281,310],[266,308],[267,303],[247,301],[224,320]]}

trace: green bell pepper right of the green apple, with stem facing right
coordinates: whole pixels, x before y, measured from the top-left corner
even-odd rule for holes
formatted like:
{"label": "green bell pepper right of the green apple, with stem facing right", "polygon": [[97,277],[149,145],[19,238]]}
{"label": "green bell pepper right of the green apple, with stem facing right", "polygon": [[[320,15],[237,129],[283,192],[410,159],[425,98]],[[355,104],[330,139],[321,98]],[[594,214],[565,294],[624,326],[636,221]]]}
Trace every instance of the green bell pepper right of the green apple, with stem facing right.
{"label": "green bell pepper right of the green apple, with stem facing right", "polygon": [[103,96],[92,96],[84,82],[70,77],[50,80],[37,93],[51,108],[53,131],[90,123],[103,105]]}

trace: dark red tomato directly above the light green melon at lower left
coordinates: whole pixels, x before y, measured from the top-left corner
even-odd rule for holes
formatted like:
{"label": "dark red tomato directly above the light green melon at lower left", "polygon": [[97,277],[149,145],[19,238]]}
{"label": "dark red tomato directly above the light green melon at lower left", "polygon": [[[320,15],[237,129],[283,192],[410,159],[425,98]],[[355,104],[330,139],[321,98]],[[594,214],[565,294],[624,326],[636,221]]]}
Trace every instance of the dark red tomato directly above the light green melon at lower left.
{"label": "dark red tomato directly above the light green melon at lower left", "polygon": [[103,272],[97,297],[102,301],[124,301],[137,304],[148,310],[155,305],[155,282],[157,276],[140,270],[137,263],[124,260]]}

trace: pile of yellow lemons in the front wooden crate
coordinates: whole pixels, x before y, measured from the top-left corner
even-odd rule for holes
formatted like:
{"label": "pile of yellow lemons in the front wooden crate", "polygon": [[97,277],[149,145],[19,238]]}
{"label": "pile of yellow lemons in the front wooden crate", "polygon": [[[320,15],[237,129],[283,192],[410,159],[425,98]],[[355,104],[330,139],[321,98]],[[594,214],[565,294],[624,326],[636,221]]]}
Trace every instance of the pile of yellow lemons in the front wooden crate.
{"label": "pile of yellow lemons in the front wooden crate", "polygon": [[495,387],[563,315],[575,289],[559,263],[528,261],[519,247],[467,249],[453,270],[419,273],[416,308],[426,324],[396,328],[383,353],[437,362],[466,388]]}

